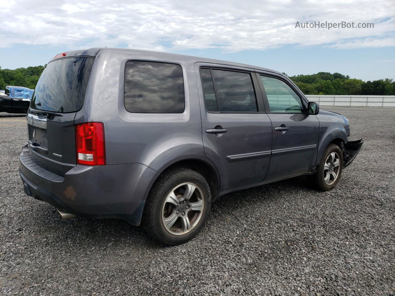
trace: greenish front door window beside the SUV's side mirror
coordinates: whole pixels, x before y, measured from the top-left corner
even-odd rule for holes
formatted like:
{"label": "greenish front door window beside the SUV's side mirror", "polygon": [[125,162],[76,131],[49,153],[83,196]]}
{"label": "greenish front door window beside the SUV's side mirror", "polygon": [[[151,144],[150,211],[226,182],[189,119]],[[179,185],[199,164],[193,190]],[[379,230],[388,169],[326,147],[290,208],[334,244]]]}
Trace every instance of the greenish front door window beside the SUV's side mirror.
{"label": "greenish front door window beside the SUV's side mirror", "polygon": [[304,112],[301,98],[284,81],[262,76],[263,87],[269,101],[270,112]]}

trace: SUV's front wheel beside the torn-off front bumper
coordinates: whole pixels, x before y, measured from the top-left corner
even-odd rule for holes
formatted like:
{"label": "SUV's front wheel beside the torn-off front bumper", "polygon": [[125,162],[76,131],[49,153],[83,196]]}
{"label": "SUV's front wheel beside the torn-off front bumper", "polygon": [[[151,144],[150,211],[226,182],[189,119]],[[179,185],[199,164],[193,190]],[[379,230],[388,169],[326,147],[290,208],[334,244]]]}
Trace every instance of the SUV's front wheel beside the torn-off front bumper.
{"label": "SUV's front wheel beside the torn-off front bumper", "polygon": [[320,165],[310,180],[316,189],[329,191],[335,188],[343,170],[342,150],[336,144],[329,144],[322,154]]}

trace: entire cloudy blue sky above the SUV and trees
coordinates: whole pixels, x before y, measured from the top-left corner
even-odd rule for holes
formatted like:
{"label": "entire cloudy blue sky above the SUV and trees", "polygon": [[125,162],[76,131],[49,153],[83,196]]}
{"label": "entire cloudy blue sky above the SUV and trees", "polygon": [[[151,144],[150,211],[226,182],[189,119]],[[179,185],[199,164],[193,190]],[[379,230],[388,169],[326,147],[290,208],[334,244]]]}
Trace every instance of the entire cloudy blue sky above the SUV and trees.
{"label": "entire cloudy blue sky above the SUV and trees", "polygon": [[[395,80],[395,1],[0,0],[2,69],[119,47],[241,62],[288,76]],[[303,28],[306,22],[373,28]],[[308,25],[309,26],[309,25]]]}

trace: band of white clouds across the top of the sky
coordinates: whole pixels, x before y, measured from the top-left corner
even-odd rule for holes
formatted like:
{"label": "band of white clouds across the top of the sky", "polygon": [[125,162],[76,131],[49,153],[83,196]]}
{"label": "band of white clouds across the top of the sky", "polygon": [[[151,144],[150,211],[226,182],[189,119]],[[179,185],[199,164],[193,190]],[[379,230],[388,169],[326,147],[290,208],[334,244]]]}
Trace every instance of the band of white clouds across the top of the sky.
{"label": "band of white clouds across the top of the sky", "polygon": [[[374,7],[373,7],[374,6]],[[26,2],[0,0],[1,36],[16,43],[177,51],[261,50],[286,44],[395,46],[395,2],[292,0]],[[299,22],[373,22],[374,28],[295,28]],[[12,36],[12,37],[11,37]],[[4,45],[0,45],[4,46]]]}

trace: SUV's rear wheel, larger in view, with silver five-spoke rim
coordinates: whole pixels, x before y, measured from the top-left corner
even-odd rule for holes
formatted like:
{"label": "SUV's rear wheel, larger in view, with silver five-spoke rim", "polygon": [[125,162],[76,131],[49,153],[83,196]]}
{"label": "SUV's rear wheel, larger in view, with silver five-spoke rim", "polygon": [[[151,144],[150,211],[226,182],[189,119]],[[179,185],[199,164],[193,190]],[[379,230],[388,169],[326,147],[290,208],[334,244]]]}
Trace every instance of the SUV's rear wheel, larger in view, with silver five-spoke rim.
{"label": "SUV's rear wheel, larger in view, with silver five-spoke rim", "polygon": [[165,171],[152,186],[143,213],[148,236],[165,245],[188,242],[204,226],[211,208],[207,181],[186,168]]}

